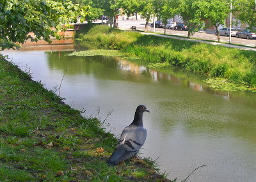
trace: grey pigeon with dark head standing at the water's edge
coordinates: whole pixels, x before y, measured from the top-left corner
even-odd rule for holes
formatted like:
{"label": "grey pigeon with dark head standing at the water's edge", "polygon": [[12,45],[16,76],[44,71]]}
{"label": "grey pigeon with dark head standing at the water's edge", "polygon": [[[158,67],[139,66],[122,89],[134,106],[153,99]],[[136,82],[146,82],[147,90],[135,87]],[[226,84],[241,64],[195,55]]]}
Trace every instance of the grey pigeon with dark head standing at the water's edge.
{"label": "grey pigeon with dark head standing at the water's edge", "polygon": [[142,121],[143,112],[145,111],[149,112],[145,105],[137,107],[131,125],[124,128],[115,151],[107,161],[109,165],[115,166],[124,160],[132,158],[143,146],[147,137],[147,130],[143,128]]}

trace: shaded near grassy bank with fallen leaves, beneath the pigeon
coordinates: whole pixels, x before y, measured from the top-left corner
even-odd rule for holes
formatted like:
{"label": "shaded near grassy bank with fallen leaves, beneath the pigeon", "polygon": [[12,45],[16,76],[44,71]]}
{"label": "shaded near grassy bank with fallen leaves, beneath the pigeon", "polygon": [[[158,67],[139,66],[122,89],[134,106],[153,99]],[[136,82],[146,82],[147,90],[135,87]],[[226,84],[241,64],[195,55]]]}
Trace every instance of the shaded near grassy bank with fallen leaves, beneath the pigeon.
{"label": "shaded near grassy bank with fallen leaves, beneath the pigeon", "polygon": [[140,158],[110,167],[117,140],[0,57],[0,181],[164,181]]}

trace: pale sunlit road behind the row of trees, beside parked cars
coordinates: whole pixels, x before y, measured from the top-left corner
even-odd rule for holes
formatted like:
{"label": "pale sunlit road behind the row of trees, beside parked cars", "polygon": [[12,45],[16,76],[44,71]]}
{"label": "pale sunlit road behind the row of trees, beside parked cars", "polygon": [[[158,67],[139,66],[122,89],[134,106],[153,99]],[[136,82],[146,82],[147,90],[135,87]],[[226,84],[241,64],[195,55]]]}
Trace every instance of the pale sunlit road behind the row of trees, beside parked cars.
{"label": "pale sunlit road behind the row of trees, beside parked cars", "polygon": [[[149,23],[151,24],[151,22]],[[130,29],[131,26],[136,26],[138,30],[144,30],[145,27],[145,20],[118,20],[118,27],[120,29]],[[163,28],[156,28],[156,33],[164,33]],[[154,32],[154,28],[148,27],[148,31]],[[172,35],[178,35],[178,36],[188,36],[188,31],[174,31],[172,29],[166,29],[166,34],[172,34]],[[217,36],[213,32],[196,32],[193,36],[193,38],[198,38],[202,40],[213,40],[218,41]],[[227,36],[220,36],[221,42],[228,43],[229,38]],[[246,45],[255,47],[256,46],[256,40],[247,40],[243,38],[236,38],[232,37],[231,42],[235,44],[240,45]]]}

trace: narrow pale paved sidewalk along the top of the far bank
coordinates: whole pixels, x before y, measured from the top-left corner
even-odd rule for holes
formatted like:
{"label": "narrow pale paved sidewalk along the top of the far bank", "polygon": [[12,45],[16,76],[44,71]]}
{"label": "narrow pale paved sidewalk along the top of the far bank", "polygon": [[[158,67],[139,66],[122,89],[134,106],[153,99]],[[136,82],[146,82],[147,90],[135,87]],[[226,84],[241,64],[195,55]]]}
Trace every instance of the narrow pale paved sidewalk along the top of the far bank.
{"label": "narrow pale paved sidewalk along the top of the far bank", "polygon": [[192,41],[192,42],[208,43],[208,44],[212,44],[212,45],[221,45],[221,46],[225,46],[225,47],[232,47],[232,48],[237,48],[237,49],[256,51],[256,49],[252,48],[252,47],[244,47],[244,46],[232,45],[232,44],[227,44],[227,43],[209,42],[206,40],[196,40],[196,39],[182,38],[182,37],[177,37],[177,36],[168,36],[168,35],[164,35],[164,34],[155,34],[155,33],[141,32],[141,34],[152,34],[155,36],[161,36],[161,37],[165,37],[165,38],[174,38],[174,39],[179,39],[179,40],[187,40],[187,41]]}

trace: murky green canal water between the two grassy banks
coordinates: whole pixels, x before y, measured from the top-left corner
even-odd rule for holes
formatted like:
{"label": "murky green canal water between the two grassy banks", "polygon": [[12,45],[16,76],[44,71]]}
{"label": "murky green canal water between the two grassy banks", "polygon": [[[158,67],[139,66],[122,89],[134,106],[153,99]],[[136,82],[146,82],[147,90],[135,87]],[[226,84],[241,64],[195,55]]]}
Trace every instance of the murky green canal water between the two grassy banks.
{"label": "murky green canal water between the two grassy banks", "polygon": [[106,128],[116,135],[131,123],[136,107],[146,105],[148,136],[141,155],[158,158],[170,179],[185,179],[207,165],[189,181],[256,181],[256,93],[212,91],[196,77],[156,72],[116,57],[3,53],[24,70],[31,68],[33,78],[56,93],[65,74],[60,89],[65,102],[102,121],[113,110]]}

